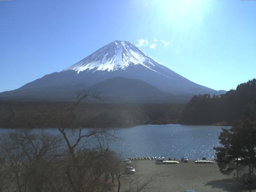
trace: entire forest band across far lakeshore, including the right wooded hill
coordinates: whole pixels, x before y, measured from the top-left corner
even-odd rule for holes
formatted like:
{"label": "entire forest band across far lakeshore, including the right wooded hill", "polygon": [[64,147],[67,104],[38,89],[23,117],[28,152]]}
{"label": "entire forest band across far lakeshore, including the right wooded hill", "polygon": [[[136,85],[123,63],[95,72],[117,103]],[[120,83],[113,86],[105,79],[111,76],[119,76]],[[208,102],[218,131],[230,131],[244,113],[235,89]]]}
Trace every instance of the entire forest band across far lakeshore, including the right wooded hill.
{"label": "entire forest band across far lakeshore, including the right wooded hill", "polygon": [[[84,128],[127,127],[141,124],[232,125],[256,99],[256,79],[220,96],[196,95],[187,104],[113,104],[81,102],[72,121]],[[74,102],[15,102],[0,100],[1,128],[55,128],[51,116],[65,117]]]}

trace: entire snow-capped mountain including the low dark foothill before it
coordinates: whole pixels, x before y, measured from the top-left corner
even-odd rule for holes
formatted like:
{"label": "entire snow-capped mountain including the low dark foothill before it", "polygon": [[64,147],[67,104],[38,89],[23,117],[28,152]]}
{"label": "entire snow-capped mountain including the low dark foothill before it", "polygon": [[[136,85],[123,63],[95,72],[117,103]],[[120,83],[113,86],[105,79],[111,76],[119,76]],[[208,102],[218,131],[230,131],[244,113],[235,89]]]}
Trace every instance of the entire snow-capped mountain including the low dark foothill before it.
{"label": "entire snow-capped mountain including the low dark foothill before it", "polygon": [[116,40],[61,72],[2,92],[0,98],[74,100],[78,89],[101,92],[113,102],[180,102],[194,94],[225,93],[180,76],[131,42]]}

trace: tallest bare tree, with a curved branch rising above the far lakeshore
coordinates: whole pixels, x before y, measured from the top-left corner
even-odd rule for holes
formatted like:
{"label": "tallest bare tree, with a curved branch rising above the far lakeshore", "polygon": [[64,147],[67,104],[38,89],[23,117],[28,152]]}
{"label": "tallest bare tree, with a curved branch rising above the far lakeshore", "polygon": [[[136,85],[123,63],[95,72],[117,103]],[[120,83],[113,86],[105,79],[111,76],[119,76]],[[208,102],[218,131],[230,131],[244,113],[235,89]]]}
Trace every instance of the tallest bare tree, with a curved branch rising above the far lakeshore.
{"label": "tallest bare tree, with a curved branch rising above the far lakeshore", "polygon": [[95,102],[101,98],[96,94],[79,92],[78,100],[67,116],[64,117],[60,113],[49,116],[56,121],[67,147],[64,173],[74,192],[105,190],[107,181],[106,178],[102,179],[100,159],[104,158],[108,143],[116,139],[114,130],[94,128],[83,131],[80,126],[74,124],[73,111],[78,103],[84,100]]}

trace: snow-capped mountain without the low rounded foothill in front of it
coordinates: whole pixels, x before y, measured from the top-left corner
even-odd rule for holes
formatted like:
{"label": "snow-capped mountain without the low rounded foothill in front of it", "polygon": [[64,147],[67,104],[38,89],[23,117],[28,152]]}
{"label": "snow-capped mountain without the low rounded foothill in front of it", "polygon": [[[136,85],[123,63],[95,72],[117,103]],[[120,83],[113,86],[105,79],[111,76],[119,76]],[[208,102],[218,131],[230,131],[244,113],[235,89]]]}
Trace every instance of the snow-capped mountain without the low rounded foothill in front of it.
{"label": "snow-capped mountain without the low rounded foothill in front of it", "polygon": [[[216,90],[196,84],[159,64],[134,44],[116,40],[60,72],[47,74],[16,90],[2,92],[0,96],[12,98],[16,95],[18,97],[19,92],[25,96],[26,90],[29,90],[29,96],[33,93],[33,89],[36,92],[40,88],[49,87],[51,89],[49,94],[64,97],[67,91],[75,92],[74,90],[77,89],[86,89],[119,76],[141,80],[168,94],[220,94]],[[58,88],[56,92],[52,89],[54,86]],[[36,94],[34,96],[36,97]]]}

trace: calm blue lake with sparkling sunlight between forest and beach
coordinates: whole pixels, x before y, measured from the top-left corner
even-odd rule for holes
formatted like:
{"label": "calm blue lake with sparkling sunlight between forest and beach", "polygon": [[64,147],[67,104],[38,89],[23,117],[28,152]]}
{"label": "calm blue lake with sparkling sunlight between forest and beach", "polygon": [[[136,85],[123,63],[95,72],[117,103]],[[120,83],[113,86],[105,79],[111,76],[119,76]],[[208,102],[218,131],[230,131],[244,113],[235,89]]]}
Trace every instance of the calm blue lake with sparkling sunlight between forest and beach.
{"label": "calm blue lake with sparkling sunlight between forest and beach", "polygon": [[[117,129],[122,140],[110,143],[110,149],[122,155],[132,157],[170,157],[180,159],[208,159],[214,157],[214,146],[221,146],[218,136],[224,126],[198,125],[142,125]],[[229,127],[224,127],[229,128]],[[58,134],[56,129],[45,129]],[[84,131],[87,129],[84,128]],[[0,129],[1,133],[9,129]],[[35,129],[40,132],[41,129]]]}

